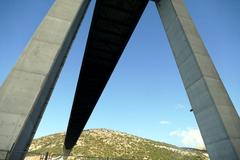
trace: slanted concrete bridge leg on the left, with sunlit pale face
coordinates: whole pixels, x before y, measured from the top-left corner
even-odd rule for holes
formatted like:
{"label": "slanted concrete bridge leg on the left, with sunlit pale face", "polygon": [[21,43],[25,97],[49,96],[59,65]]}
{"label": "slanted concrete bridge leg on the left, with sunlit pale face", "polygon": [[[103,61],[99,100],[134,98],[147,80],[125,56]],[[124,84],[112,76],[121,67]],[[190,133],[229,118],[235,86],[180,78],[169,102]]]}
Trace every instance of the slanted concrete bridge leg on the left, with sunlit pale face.
{"label": "slanted concrete bridge leg on the left, with sunlit pale face", "polygon": [[0,159],[24,158],[89,1],[56,0],[1,87]]}

